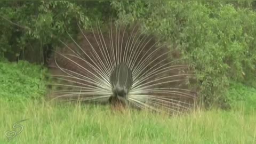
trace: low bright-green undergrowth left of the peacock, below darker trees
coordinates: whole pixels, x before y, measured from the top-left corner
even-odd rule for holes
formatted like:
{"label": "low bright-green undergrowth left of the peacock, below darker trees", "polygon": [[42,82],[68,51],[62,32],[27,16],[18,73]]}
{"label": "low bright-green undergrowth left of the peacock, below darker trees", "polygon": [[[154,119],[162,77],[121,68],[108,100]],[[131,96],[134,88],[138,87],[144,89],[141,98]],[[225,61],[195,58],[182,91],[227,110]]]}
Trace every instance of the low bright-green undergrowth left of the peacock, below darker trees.
{"label": "low bright-green undergrowth left of the peacock, below darker trees", "polygon": [[26,61],[0,62],[0,97],[7,101],[38,99],[46,92],[46,69]]}

